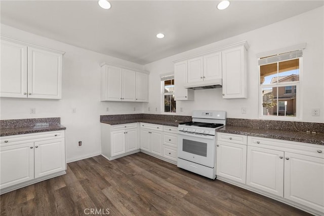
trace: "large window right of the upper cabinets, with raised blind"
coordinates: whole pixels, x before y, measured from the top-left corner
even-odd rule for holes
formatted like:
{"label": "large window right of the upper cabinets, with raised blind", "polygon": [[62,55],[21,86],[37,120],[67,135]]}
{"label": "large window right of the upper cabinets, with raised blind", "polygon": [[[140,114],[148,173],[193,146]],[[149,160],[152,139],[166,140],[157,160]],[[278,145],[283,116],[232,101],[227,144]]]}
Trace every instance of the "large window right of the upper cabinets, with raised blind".
{"label": "large window right of the upper cabinets, with raised blind", "polygon": [[260,117],[299,117],[302,50],[259,58]]}

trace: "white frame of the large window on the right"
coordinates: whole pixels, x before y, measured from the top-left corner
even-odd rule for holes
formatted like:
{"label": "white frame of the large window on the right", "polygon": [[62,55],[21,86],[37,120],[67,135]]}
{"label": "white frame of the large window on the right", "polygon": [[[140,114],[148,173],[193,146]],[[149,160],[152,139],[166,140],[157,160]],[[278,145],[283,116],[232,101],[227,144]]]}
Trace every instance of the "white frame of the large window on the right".
{"label": "white frame of the large window on the right", "polygon": [[[292,50],[293,51],[293,50]],[[280,54],[280,53],[277,53]],[[265,56],[263,56],[265,57]],[[260,58],[262,58],[262,56],[258,57],[257,59],[259,60]],[[302,96],[301,96],[301,92],[302,92],[302,74],[303,74],[303,56],[298,57],[299,58],[299,81],[291,81],[291,82],[282,82],[282,83],[272,83],[272,84],[260,84],[260,79],[261,79],[261,74],[260,74],[260,68],[261,65],[258,65],[258,94],[259,94],[259,119],[264,119],[264,120],[280,120],[280,121],[300,121],[302,119]],[[296,58],[297,59],[297,58]],[[287,61],[287,60],[284,60]],[[277,62],[281,62],[281,61],[277,61]],[[271,116],[271,115],[263,115],[263,94],[262,94],[262,89],[263,88],[273,88],[273,87],[286,87],[286,86],[296,86],[296,88],[292,87],[292,92],[293,93],[288,93],[288,94],[294,94],[295,92],[298,92],[298,94],[296,93],[296,116],[292,117],[292,116],[278,116],[279,113],[279,100],[278,104],[277,104],[277,115],[276,116]],[[286,92],[286,88],[285,88],[285,92]],[[277,90],[277,94],[274,95],[274,97],[278,98],[278,90]],[[280,111],[282,112],[282,111]]]}

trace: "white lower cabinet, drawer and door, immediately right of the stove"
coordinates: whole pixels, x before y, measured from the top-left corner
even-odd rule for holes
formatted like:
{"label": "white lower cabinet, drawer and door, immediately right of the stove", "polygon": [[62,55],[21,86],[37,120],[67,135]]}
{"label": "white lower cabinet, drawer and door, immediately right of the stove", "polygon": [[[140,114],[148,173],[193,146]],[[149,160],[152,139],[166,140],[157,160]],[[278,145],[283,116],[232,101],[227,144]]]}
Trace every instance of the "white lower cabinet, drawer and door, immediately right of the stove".
{"label": "white lower cabinet, drawer and door, immediately right of the stove", "polygon": [[[227,138],[227,140],[226,140]],[[237,143],[239,140],[239,143]],[[217,133],[216,175],[246,183],[247,136]]]}

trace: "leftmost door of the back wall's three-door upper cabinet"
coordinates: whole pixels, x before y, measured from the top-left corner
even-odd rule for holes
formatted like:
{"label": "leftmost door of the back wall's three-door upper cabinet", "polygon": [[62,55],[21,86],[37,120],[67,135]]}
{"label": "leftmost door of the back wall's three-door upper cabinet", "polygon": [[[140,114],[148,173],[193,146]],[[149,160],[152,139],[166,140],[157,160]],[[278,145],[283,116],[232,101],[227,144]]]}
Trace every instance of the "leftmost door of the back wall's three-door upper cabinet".
{"label": "leftmost door of the back wall's three-door upper cabinet", "polygon": [[121,68],[105,65],[102,73],[101,100],[121,101]]}

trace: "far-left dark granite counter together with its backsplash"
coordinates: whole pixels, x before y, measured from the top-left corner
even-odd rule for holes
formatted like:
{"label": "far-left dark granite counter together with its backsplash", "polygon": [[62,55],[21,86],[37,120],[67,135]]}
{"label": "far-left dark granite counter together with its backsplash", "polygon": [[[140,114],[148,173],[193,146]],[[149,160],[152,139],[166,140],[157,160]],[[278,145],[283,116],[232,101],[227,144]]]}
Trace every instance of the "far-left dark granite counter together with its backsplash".
{"label": "far-left dark granite counter together with its backsplash", "polygon": [[0,121],[0,136],[11,136],[28,133],[38,133],[65,130],[60,124],[60,118],[13,119]]}

